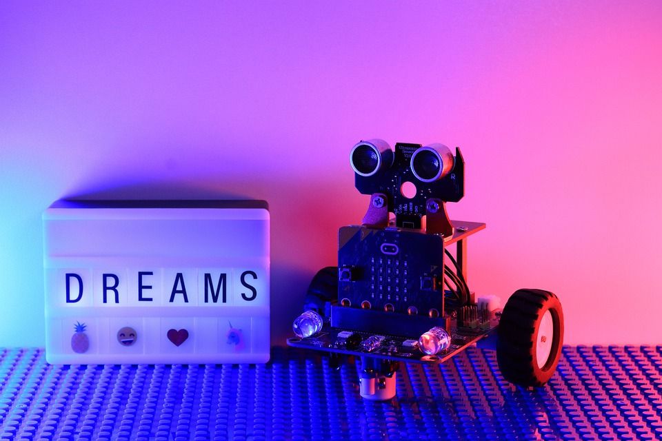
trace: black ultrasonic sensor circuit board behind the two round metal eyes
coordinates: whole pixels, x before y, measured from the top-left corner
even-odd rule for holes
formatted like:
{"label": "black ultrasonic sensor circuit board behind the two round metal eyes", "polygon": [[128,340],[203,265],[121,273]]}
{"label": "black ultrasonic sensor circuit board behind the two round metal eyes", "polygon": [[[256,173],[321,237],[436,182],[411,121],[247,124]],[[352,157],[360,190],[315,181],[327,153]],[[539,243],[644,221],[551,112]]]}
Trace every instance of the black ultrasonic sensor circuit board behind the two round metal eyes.
{"label": "black ultrasonic sensor circuit board behind the two round metal eyes", "polygon": [[[410,167],[412,154],[421,144],[397,143],[393,165],[379,170],[373,176],[354,174],[354,185],[361,194],[382,193],[388,198],[388,209],[396,215],[397,225],[420,228],[421,216],[425,215],[425,203],[429,198],[457,202],[464,196],[464,160],[459,149],[455,150],[455,165],[451,172],[439,181],[424,183],[419,181]],[[416,187],[413,198],[401,193],[403,183]]]}

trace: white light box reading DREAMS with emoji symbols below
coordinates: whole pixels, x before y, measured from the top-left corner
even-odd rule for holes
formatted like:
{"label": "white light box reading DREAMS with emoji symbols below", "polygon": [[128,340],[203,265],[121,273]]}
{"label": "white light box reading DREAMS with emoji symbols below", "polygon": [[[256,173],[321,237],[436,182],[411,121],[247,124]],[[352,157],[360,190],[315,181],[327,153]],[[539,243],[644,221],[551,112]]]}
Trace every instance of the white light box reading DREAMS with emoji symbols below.
{"label": "white light box reading DREAMS with emoji symbols below", "polygon": [[43,233],[48,362],[268,361],[264,201],[58,201]]}

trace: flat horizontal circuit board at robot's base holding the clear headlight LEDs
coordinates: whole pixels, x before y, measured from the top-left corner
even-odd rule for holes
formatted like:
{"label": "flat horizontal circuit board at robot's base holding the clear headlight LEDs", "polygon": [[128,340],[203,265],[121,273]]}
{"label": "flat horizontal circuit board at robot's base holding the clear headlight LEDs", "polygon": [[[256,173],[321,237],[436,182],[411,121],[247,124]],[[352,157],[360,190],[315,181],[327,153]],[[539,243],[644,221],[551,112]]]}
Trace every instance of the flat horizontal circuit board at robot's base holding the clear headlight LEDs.
{"label": "flat horizontal circuit board at robot's base holding the clear headlight LEDs", "polygon": [[[428,356],[418,347],[419,336],[402,337],[387,334],[371,334],[370,332],[353,331],[325,327],[317,336],[310,338],[290,338],[288,345],[304,349],[315,349],[332,353],[342,353],[351,356],[370,356],[394,361],[420,362],[437,364],[448,360],[470,345],[487,337],[499,325],[498,318],[481,322],[474,327],[457,327],[453,325],[450,331],[451,344],[448,349],[435,356]],[[381,343],[377,349],[366,351],[361,348],[361,342],[377,336]]]}

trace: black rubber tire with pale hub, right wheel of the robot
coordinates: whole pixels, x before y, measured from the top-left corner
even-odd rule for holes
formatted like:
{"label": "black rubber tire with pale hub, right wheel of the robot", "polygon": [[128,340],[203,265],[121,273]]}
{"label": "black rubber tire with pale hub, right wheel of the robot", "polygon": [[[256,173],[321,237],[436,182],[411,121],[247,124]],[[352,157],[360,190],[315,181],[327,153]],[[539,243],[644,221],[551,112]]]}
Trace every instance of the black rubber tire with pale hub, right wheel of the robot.
{"label": "black rubber tire with pale hub, right wheel of the robot", "polygon": [[[551,344],[547,343],[550,330]],[[525,387],[543,386],[554,375],[563,348],[559,298],[542,289],[518,289],[503,308],[497,333],[496,360],[503,378]]]}

